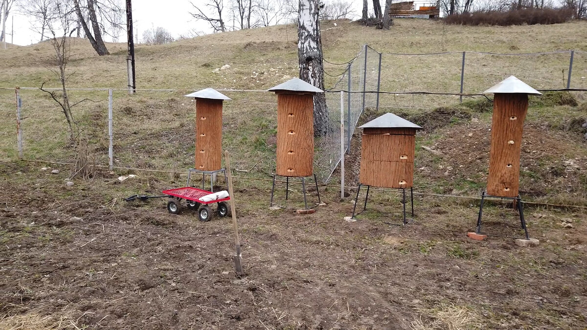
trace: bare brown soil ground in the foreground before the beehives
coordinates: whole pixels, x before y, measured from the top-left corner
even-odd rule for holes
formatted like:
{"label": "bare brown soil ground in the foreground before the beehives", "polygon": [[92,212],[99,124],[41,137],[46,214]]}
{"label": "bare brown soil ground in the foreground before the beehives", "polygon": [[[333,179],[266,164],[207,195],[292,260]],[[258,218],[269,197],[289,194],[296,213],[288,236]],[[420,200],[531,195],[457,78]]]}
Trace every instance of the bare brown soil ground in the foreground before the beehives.
{"label": "bare brown soil ground in the foreground before the beehives", "polygon": [[[528,207],[541,245],[519,248],[465,238],[474,203],[417,197],[414,223],[400,227],[385,223],[399,222],[399,199],[376,192],[374,211],[348,223],[352,204],[336,189],[321,189],[328,206],[296,215],[269,211],[270,187],[243,180],[235,195],[246,276],[236,278],[228,220],[201,223],[187,210],[168,214],[163,200],[116,198],[156,193],[168,179],[112,185],[104,173],[65,187],[65,168],[0,166],[13,173],[0,182],[2,328],[43,317],[63,328],[587,326],[584,210]],[[519,233],[517,214],[498,204],[486,208],[485,225]]]}

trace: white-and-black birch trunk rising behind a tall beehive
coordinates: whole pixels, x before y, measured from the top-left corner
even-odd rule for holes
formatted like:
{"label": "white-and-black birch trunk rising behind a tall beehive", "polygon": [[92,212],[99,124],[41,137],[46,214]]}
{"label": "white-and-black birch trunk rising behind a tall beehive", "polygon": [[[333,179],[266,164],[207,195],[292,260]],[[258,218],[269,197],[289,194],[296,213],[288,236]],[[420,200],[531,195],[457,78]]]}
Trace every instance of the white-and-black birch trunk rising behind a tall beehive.
{"label": "white-and-black birch trunk rising behind a tall beehive", "polygon": [[[300,0],[298,20],[299,78],[324,89],[322,39],[320,37],[319,1]],[[325,93],[314,96],[314,136],[328,133],[328,109]]]}

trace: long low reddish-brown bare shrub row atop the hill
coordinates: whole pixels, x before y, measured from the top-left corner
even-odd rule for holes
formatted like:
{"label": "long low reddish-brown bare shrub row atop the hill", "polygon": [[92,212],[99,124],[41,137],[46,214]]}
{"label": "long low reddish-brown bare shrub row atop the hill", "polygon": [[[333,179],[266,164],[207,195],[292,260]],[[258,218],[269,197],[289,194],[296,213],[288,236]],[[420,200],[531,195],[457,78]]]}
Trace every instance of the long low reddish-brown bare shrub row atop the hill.
{"label": "long low reddish-brown bare shrub row atop the hill", "polygon": [[569,21],[572,17],[573,12],[566,8],[522,8],[510,11],[476,11],[448,15],[444,18],[444,23],[500,26],[556,24]]}

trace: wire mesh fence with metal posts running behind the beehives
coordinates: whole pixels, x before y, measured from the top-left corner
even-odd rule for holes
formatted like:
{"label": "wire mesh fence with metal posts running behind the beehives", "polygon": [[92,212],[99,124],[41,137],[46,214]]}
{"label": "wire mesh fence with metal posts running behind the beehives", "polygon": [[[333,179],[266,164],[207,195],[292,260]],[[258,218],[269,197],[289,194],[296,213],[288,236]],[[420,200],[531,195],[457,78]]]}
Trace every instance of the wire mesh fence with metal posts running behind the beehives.
{"label": "wire mesh fence with metal posts running behind the beehives", "polygon": [[[465,99],[468,94],[478,95],[509,75],[538,90],[587,88],[587,52],[578,50],[405,54],[380,53],[365,45],[355,58],[340,66],[346,70],[326,90],[330,129],[315,140],[315,173],[322,183],[332,179],[340,164],[341,144],[348,152],[359,117],[369,107],[454,105],[464,100],[463,95]],[[112,89],[113,97],[109,98],[107,88],[70,89],[70,96],[95,101],[76,107],[74,116],[87,134],[97,164],[184,170],[193,167],[195,152],[194,104],[183,97],[192,91],[144,89],[139,95],[128,96],[126,90]],[[224,126],[232,132],[225,134],[223,144],[239,150],[234,167],[249,176],[270,176],[275,170],[275,159],[268,155],[274,154],[276,147],[276,112],[267,109],[276,106],[275,96],[263,90],[221,92],[233,99],[224,105]],[[63,115],[46,110],[53,109],[55,103],[36,88],[23,87],[18,93],[21,134],[14,143],[16,148],[10,139],[2,139],[0,149],[29,159],[73,159]],[[0,103],[15,105],[14,89],[2,90]],[[246,118],[242,116],[244,108]],[[8,130],[3,134],[9,134]]]}

